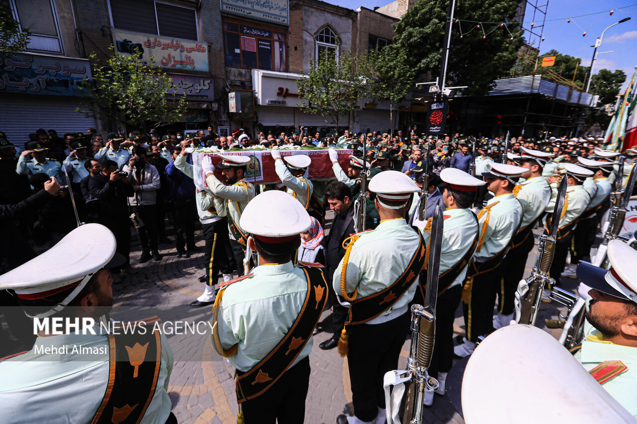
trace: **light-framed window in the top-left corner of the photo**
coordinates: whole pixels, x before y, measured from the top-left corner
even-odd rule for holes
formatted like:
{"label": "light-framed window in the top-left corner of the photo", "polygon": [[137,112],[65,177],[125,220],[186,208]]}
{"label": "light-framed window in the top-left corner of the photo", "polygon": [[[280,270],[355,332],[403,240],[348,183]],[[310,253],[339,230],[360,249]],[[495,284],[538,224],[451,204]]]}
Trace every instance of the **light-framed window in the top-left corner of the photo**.
{"label": "light-framed window in the top-left corner of the photo", "polygon": [[31,34],[27,50],[64,53],[54,0],[11,0],[10,4],[20,31]]}

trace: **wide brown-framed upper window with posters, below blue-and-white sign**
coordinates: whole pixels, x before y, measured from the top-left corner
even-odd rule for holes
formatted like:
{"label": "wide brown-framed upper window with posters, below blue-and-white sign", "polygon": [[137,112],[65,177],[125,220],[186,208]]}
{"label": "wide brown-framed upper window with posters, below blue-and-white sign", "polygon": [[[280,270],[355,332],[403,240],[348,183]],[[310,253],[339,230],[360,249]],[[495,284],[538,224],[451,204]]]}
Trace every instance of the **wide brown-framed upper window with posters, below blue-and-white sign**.
{"label": "wide brown-framed upper window with posters, below blue-and-white sign", "polygon": [[285,34],[224,22],[225,66],[287,71]]}

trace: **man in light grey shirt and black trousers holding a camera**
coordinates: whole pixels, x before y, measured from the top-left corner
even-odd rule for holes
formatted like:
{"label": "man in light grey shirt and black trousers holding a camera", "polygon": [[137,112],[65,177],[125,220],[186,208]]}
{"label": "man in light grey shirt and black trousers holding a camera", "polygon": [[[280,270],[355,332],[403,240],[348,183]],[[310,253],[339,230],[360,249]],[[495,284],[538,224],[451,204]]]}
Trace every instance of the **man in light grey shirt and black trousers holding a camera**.
{"label": "man in light grey shirt and black trousers holding a camera", "polygon": [[157,249],[157,190],[161,188],[157,168],[146,161],[146,149],[134,146],[132,158],[122,167],[129,174],[134,194],[129,196],[131,220],[141,244],[140,264],[147,262],[152,251],[153,260],[160,260]]}

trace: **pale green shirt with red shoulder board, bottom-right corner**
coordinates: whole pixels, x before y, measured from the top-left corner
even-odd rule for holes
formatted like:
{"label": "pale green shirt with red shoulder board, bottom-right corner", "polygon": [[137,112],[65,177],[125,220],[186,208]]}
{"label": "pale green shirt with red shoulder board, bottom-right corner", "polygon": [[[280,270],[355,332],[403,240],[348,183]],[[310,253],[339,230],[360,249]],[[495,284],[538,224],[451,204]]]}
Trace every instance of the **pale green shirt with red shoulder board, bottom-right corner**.
{"label": "pale green shirt with red shoulder board, bottom-right corner", "polygon": [[575,359],[590,371],[605,361],[620,360],[628,367],[601,386],[627,411],[637,416],[637,348],[621,346],[605,341],[602,334],[592,328],[582,342],[582,349],[575,353]]}

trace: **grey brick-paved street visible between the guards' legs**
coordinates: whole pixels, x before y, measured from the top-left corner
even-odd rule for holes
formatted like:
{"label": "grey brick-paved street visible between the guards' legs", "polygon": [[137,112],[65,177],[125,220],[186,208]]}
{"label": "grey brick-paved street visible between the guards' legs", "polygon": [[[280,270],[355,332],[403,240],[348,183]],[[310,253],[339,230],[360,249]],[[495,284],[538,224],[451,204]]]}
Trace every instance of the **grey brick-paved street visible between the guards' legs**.
{"label": "grey brick-paved street visible between the guards' legs", "polygon": [[[199,237],[200,238],[200,237]],[[199,242],[198,245],[203,244]],[[192,320],[208,322],[210,308],[192,309],[189,303],[203,290],[197,277],[203,272],[203,253],[183,259],[176,257],[174,248],[162,245],[162,260],[136,266],[138,274],[126,276],[114,288],[115,306],[111,318],[136,316],[146,318],[155,314],[163,322]],[[136,264],[140,253],[132,253]],[[529,255],[527,271],[530,271],[534,254]],[[575,280],[568,280],[575,286]],[[567,285],[567,288],[571,288]],[[556,318],[555,304],[542,304],[544,318]],[[322,319],[329,315],[324,312]],[[455,332],[464,334],[462,309],[456,313]],[[207,334],[207,333],[206,333]],[[310,392],[306,401],[306,423],[332,424],[341,413],[352,412],[352,393],[347,372],[347,360],[336,349],[323,351],[318,343],[326,340],[324,332],[315,336],[310,355]],[[228,423],[236,422],[237,406],[234,394],[234,369],[227,361],[213,355],[207,335],[168,336],[175,354],[175,365],[169,386],[173,412],[180,423]],[[378,341],[382,343],[382,341]],[[406,364],[409,339],[401,353],[400,366]],[[433,407],[425,410],[426,423],[462,423],[448,398],[436,396]]]}

